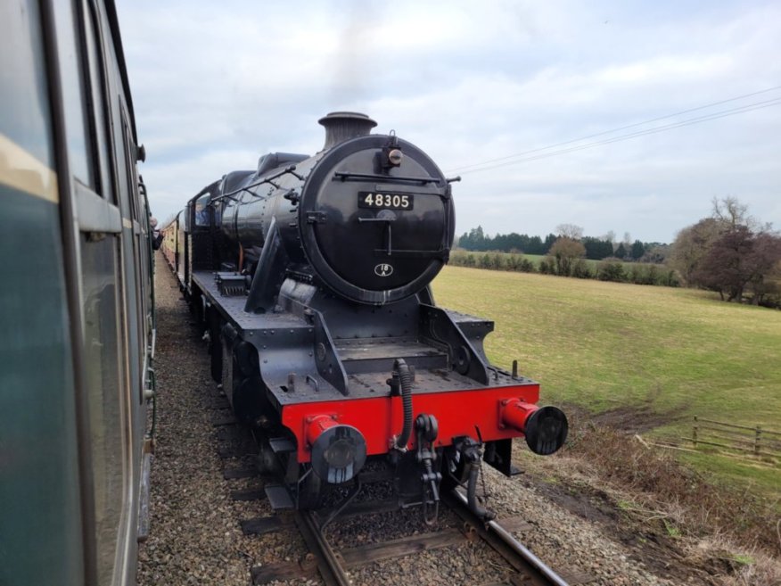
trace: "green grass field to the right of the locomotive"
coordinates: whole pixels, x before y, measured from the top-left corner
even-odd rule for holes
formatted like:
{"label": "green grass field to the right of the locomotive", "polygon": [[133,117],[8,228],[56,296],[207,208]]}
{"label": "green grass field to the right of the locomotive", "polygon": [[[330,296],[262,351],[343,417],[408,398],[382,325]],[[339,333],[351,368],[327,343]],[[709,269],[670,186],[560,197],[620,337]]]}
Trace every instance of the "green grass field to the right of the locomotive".
{"label": "green grass field to the right of the locomotive", "polygon": [[[544,402],[650,408],[665,435],[689,436],[695,415],[781,431],[781,311],[689,289],[461,267],[445,268],[433,291],[444,307],[493,319],[489,358],[518,359]],[[693,460],[778,491],[778,468]]]}

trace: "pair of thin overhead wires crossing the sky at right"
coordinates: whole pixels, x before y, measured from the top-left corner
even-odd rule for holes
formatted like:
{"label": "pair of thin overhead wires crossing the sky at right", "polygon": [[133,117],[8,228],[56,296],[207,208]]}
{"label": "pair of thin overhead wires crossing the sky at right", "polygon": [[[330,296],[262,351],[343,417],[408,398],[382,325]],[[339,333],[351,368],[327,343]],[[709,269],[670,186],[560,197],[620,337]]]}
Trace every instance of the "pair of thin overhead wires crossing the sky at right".
{"label": "pair of thin overhead wires crossing the sky at right", "polygon": [[[735,108],[730,108],[728,110],[723,110],[723,111],[711,112],[711,113],[708,113],[708,114],[703,114],[703,116],[699,116],[699,117],[695,117],[695,118],[691,118],[691,119],[687,119],[687,120],[679,120],[678,122],[673,122],[673,123],[662,125],[662,126],[659,126],[659,127],[645,128],[643,130],[639,130],[637,132],[632,132],[632,133],[629,133],[629,134],[626,134],[626,135],[612,136],[610,138],[605,138],[604,140],[594,141],[594,142],[587,143],[587,144],[576,144],[575,146],[571,146],[571,147],[568,147],[568,148],[565,148],[565,149],[559,149],[559,150],[556,150],[556,151],[553,151],[553,152],[550,152],[550,153],[543,153],[544,151],[550,151],[551,149],[555,149],[556,147],[559,147],[559,146],[564,146],[564,145],[567,145],[567,144],[580,143],[580,142],[582,142],[584,140],[588,140],[589,138],[596,138],[596,136],[611,135],[611,134],[614,134],[616,132],[620,132],[621,130],[627,130],[629,128],[637,128],[637,127],[640,127],[640,126],[645,126],[647,124],[651,124],[653,122],[658,122],[660,120],[668,120],[670,118],[675,118],[675,117],[680,116],[682,114],[691,113],[693,111],[706,110],[708,108],[713,108],[714,106],[718,106],[718,105],[721,105],[721,104],[724,104],[724,103],[736,102],[737,100],[744,100],[744,99],[746,99],[748,97],[752,97],[752,96],[755,96],[755,95],[767,94],[769,92],[776,91],[778,89],[781,89],[781,86],[769,87],[767,89],[763,89],[763,90],[760,90],[760,91],[757,91],[757,92],[752,92],[750,94],[738,95],[738,96],[735,96],[735,97],[732,97],[732,98],[728,98],[726,100],[719,100],[719,102],[708,103],[708,104],[705,104],[703,106],[698,106],[696,108],[689,108],[687,110],[678,111],[678,112],[675,112],[675,113],[672,113],[672,114],[667,114],[665,116],[659,116],[657,118],[653,118],[653,119],[650,119],[650,120],[644,120],[642,122],[636,122],[636,123],[628,124],[628,125],[621,126],[621,127],[618,127],[618,128],[611,128],[610,130],[604,130],[602,132],[597,132],[597,133],[594,133],[594,134],[591,134],[591,135],[587,135],[587,136],[580,136],[580,138],[574,138],[574,139],[563,141],[563,142],[560,142],[560,143],[549,144],[547,146],[543,146],[543,147],[539,147],[539,148],[535,148],[535,149],[530,149],[528,151],[523,151],[521,153],[514,153],[514,154],[506,155],[504,157],[498,157],[496,159],[489,159],[487,161],[481,161],[481,162],[473,163],[473,164],[470,164],[470,165],[461,165],[461,166],[449,169],[447,172],[448,173],[457,172],[457,173],[461,173],[461,174],[466,174],[466,173],[473,173],[473,172],[489,170],[489,169],[497,169],[499,167],[504,167],[506,165],[513,165],[513,164],[522,163],[522,162],[528,162],[528,161],[537,161],[538,159],[545,159],[547,157],[557,156],[557,155],[560,155],[560,154],[580,151],[582,149],[592,148],[592,147],[600,145],[600,144],[611,144],[611,143],[619,142],[621,140],[628,140],[629,138],[634,138],[634,137],[637,137],[637,136],[645,136],[645,135],[655,134],[655,133],[658,133],[658,132],[664,132],[664,131],[667,131],[667,130],[671,130],[673,128],[680,128],[680,127],[690,126],[692,124],[698,124],[698,123],[705,122],[705,121],[708,121],[708,120],[717,120],[719,118],[726,118],[728,116],[734,116],[736,114],[744,113],[745,111],[753,111],[753,110],[760,110],[761,108],[768,108],[770,106],[777,105],[777,103],[781,103],[781,96],[775,97],[775,98],[771,98],[771,99],[765,100],[763,102],[751,103],[751,104],[746,104],[746,105],[743,105],[743,106],[736,106]],[[531,156],[531,157],[524,156],[524,155],[530,155],[530,154],[534,154],[534,153],[542,153],[542,154],[538,154],[538,155]],[[497,164],[494,164],[494,163],[497,163]]]}

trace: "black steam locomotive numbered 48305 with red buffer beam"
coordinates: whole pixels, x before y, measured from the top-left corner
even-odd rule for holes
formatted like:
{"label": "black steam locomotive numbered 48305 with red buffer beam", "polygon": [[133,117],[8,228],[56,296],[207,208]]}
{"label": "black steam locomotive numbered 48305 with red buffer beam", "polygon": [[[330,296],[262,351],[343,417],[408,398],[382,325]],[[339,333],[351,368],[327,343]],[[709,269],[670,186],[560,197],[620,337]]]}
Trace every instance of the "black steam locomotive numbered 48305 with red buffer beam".
{"label": "black steam locomotive numbered 48305 with red buffer beam", "polygon": [[163,252],[210,340],[211,374],[259,430],[281,482],[275,508],[353,498],[371,474],[432,522],[440,491],[481,460],[513,473],[512,440],[547,455],[567,420],[539,385],[489,363],[493,323],[443,310],[430,283],[448,261],[451,183],[364,114],[319,120],[313,156],[270,153],[196,194],[163,230]]}

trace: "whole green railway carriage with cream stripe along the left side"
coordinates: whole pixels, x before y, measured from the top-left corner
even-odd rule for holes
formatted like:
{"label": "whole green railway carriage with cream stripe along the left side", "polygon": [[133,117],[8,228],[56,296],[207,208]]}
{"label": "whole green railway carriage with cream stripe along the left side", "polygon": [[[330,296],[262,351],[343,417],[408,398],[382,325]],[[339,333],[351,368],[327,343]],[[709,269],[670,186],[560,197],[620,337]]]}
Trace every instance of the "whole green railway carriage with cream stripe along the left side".
{"label": "whole green railway carriage with cream stripe along the left side", "polygon": [[136,583],[154,343],[138,160],[113,2],[0,3],[4,586]]}

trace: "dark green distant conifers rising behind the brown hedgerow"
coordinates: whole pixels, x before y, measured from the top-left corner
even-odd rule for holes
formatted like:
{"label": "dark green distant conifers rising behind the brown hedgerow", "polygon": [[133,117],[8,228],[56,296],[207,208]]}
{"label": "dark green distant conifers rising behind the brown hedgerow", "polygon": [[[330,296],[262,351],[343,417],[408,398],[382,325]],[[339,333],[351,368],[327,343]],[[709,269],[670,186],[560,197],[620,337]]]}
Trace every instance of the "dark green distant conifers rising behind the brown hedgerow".
{"label": "dark green distant conifers rising behind the brown hedgerow", "polygon": [[[485,235],[481,226],[464,232],[458,239],[458,246],[473,252],[522,252],[524,254],[548,254],[560,235],[549,234],[545,239],[540,236],[526,234],[497,234],[493,237]],[[586,249],[586,258],[603,260],[617,258],[621,260],[644,260],[647,262],[662,262],[666,244],[643,243],[613,243],[610,238],[595,238],[583,236],[578,239]]]}

